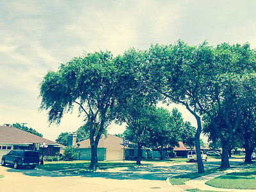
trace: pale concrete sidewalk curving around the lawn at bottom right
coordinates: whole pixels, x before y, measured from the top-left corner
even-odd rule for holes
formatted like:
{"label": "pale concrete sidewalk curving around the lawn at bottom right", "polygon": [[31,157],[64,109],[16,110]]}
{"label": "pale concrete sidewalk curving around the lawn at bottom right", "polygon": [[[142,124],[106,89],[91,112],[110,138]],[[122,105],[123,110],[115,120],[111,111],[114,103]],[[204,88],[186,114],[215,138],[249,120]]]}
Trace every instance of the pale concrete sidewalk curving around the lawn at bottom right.
{"label": "pale concrete sidewalk curving around the lawn at bottom right", "polygon": [[[186,189],[200,189],[200,190],[210,190],[210,191],[239,191],[239,192],[245,192],[245,191],[251,191],[255,192],[255,189],[220,189],[220,188],[214,188],[212,186],[208,186],[205,184],[207,180],[214,179],[215,177],[219,177],[221,175],[225,175],[227,173],[232,173],[232,172],[239,172],[240,170],[244,169],[243,168],[237,168],[234,170],[226,170],[224,172],[218,172],[218,173],[212,173],[210,175],[204,175],[202,177],[198,177],[196,179],[191,179],[185,182],[185,185],[180,185],[180,186],[175,186],[176,188],[180,189],[180,191],[184,191]],[[168,182],[168,180],[166,180]],[[171,184],[172,185],[172,184]]]}

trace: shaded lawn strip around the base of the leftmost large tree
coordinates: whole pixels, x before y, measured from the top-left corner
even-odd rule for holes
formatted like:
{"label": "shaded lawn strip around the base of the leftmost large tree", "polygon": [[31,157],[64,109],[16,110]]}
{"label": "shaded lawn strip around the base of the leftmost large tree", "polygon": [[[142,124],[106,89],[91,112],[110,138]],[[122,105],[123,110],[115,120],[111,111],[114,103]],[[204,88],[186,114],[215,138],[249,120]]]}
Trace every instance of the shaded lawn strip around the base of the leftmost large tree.
{"label": "shaded lawn strip around the base of the leftmost large tree", "polygon": [[[66,173],[81,173],[88,172],[90,166],[90,161],[52,161],[44,162],[44,164],[38,164],[36,168],[48,171],[61,170],[61,172]],[[99,169],[104,170],[108,168],[119,168],[119,167],[129,167],[136,166],[133,163],[117,163],[111,161],[99,161]]]}

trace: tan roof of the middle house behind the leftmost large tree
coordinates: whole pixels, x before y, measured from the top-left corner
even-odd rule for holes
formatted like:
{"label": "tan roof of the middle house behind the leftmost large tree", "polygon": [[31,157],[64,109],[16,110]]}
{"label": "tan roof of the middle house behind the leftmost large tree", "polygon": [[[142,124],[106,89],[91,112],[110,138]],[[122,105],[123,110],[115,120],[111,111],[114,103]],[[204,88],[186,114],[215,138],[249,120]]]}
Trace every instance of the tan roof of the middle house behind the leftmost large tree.
{"label": "tan roof of the middle house behind the leftmost large tree", "polygon": [[[79,142],[79,147],[77,148],[90,148],[90,139]],[[104,134],[101,136],[98,144],[98,148],[124,148],[123,139],[112,134]]]}

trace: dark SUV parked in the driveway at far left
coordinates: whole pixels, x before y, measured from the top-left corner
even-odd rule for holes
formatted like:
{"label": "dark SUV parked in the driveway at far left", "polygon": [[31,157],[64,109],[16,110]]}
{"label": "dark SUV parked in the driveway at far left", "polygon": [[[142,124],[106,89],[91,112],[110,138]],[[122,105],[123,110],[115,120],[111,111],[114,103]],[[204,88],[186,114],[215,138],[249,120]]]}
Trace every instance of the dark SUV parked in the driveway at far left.
{"label": "dark SUV parked in the driveway at far left", "polygon": [[1,164],[13,164],[15,169],[20,166],[35,168],[36,164],[39,164],[39,155],[35,150],[11,150],[2,157]]}

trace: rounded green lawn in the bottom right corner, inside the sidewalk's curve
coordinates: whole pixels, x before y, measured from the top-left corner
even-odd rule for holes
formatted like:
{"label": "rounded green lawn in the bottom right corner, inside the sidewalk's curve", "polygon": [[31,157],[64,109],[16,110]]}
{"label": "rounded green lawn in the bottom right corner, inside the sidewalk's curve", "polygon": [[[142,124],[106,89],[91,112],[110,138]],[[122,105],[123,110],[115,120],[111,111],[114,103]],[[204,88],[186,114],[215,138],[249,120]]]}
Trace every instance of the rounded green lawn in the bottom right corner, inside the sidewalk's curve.
{"label": "rounded green lawn in the bottom right corner, inside the sidewalk's curve", "polygon": [[256,189],[256,168],[228,173],[227,175],[208,180],[206,184],[215,188]]}

